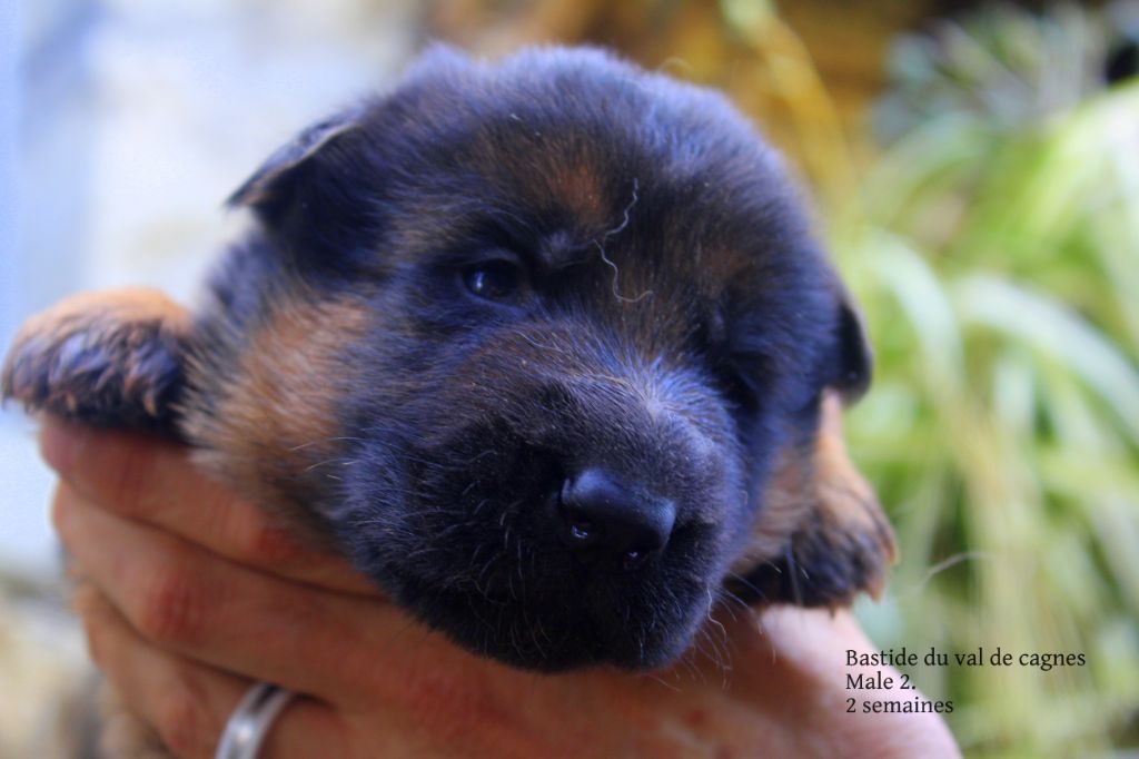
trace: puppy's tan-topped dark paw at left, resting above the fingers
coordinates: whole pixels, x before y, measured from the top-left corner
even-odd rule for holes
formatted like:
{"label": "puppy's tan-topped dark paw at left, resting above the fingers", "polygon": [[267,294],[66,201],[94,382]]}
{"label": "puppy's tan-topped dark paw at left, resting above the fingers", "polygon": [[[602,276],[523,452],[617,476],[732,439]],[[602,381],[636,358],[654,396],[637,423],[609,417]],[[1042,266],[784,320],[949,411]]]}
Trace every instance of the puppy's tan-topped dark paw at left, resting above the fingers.
{"label": "puppy's tan-topped dark paw at left, resting above the fingers", "polygon": [[189,327],[188,312],[154,291],[69,297],[17,334],[3,398],[99,426],[170,429]]}

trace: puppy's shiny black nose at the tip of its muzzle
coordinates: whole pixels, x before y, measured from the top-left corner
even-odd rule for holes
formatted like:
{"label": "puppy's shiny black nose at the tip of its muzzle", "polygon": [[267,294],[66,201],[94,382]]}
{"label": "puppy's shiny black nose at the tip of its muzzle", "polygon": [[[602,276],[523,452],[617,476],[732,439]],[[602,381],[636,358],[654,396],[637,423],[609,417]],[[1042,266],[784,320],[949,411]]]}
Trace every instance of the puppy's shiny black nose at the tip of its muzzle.
{"label": "puppy's shiny black nose at the tip of its muzzle", "polygon": [[563,540],[583,561],[630,570],[669,542],[677,509],[588,468],[562,485]]}

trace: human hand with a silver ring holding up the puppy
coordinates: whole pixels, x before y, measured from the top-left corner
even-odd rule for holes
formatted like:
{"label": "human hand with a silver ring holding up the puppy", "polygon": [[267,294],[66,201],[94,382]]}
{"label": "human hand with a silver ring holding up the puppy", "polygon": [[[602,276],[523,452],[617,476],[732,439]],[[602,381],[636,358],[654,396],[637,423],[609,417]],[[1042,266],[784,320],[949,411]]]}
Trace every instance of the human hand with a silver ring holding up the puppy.
{"label": "human hand with a silver ring holding up the puppy", "polygon": [[92,656],[180,757],[212,757],[256,680],[305,694],[262,759],[959,756],[937,715],[846,713],[845,651],[874,651],[846,612],[724,607],[650,675],[518,671],[411,620],[182,448],[52,419],[41,443]]}

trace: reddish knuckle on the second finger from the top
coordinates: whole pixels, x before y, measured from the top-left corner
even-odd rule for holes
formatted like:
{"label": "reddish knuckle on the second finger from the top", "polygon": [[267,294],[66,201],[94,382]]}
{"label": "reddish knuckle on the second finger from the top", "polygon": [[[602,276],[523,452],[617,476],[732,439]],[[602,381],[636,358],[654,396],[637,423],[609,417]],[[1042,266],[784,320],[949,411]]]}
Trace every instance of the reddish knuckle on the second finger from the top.
{"label": "reddish knuckle on the second finger from the top", "polygon": [[205,629],[207,605],[207,593],[198,578],[171,562],[142,585],[132,622],[144,637],[159,645],[194,645]]}

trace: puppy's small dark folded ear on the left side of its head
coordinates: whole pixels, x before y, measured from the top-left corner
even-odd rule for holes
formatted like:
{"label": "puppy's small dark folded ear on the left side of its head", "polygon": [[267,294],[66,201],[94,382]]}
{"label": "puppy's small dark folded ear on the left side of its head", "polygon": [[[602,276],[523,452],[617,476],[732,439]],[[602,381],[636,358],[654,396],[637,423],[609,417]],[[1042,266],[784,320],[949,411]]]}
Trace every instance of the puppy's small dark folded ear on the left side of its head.
{"label": "puppy's small dark folded ear on the left side of its head", "polygon": [[270,228],[285,225],[298,209],[305,215],[335,213],[352,163],[345,155],[346,138],[359,129],[361,117],[362,108],[355,108],[309,126],[269,156],[227,205],[253,209]]}

